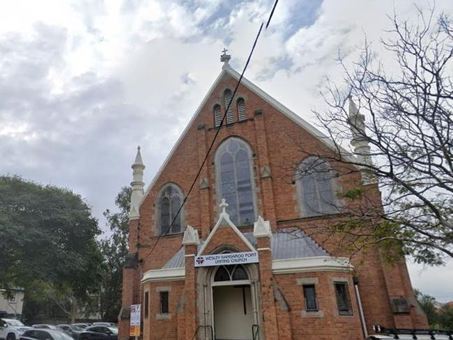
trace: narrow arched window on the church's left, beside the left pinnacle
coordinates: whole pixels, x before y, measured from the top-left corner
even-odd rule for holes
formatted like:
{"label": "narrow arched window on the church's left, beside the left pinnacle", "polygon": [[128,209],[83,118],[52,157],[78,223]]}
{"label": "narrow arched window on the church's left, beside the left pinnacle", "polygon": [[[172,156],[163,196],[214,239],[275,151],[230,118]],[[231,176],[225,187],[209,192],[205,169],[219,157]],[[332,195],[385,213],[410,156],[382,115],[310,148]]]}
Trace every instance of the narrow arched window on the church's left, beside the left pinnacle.
{"label": "narrow arched window on the church's left, beside the left pinnacle", "polygon": [[[160,235],[165,235],[169,233],[181,233],[181,221],[183,216],[183,211],[178,213],[179,208],[181,207],[181,202],[183,199],[183,194],[179,188],[174,184],[166,185],[160,192],[158,198],[159,204],[159,231]],[[176,217],[176,219],[175,219]],[[175,219],[174,224],[169,229],[171,222]]]}

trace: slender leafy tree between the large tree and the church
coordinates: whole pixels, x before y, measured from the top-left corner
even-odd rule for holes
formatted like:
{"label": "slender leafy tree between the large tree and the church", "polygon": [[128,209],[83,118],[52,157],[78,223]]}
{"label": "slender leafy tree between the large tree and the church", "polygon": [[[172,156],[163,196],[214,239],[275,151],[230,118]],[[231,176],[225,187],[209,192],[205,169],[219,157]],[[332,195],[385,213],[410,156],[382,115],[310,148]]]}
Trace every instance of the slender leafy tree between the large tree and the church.
{"label": "slender leafy tree between the large tree and the church", "polygon": [[106,210],[109,235],[101,241],[104,274],[100,293],[100,311],[104,320],[116,321],[121,309],[123,264],[128,254],[130,187],[122,187],[115,199],[118,212]]}

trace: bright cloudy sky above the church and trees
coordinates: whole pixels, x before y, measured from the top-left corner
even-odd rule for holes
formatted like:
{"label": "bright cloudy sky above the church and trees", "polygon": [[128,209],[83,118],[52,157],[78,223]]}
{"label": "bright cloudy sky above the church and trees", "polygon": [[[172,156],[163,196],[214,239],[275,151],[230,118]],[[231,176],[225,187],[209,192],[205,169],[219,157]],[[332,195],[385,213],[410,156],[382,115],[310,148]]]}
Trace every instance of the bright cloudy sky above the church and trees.
{"label": "bright cloudy sky above the church and trees", "polygon": [[[0,173],[68,187],[114,210],[136,148],[150,183],[221,70],[240,71],[274,0],[0,2]],[[245,77],[311,123],[326,78],[341,85],[364,38],[382,61],[387,15],[433,1],[280,0]],[[453,14],[451,0],[436,11]],[[453,261],[408,263],[413,286],[453,300]]]}

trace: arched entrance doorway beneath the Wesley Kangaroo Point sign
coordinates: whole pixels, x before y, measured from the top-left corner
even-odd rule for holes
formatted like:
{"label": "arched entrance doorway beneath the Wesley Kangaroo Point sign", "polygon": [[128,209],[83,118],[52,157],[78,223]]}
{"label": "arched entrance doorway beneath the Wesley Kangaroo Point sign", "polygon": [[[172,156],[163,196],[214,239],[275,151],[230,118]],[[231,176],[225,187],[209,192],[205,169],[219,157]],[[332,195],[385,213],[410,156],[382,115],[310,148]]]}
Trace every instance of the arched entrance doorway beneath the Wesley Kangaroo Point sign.
{"label": "arched entrance doorway beneath the Wesley Kangaroo Point sign", "polygon": [[242,265],[222,265],[213,281],[216,340],[252,340],[254,309],[249,277]]}

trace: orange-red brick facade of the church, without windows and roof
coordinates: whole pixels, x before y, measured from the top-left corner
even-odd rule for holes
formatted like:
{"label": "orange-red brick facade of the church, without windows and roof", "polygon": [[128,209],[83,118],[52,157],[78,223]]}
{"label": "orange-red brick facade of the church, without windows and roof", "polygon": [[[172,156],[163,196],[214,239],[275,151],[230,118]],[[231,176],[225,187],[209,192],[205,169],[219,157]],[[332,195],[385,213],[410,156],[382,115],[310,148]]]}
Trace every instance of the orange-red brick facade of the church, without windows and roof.
{"label": "orange-red brick facade of the church, without windows and roof", "polygon": [[[206,294],[202,285],[197,284],[200,272],[194,268],[194,255],[197,247],[185,246],[185,277],[147,281],[141,284],[140,277],[150,270],[159,270],[182,246],[183,233],[163,236],[158,241],[159,226],[156,218],[156,197],[167,183],[175,183],[187,193],[199,166],[206,155],[216,128],[213,120],[213,107],[220,104],[224,110],[223,93],[236,86],[236,78],[229,68],[215,83],[201,109],[183,134],[163,169],[153,181],[139,208],[139,219],[130,222],[130,253],[137,252],[133,268],[125,268],[123,277],[123,309],[132,303],[140,303],[144,292],[149,293],[148,316],[144,318],[143,339],[192,339],[198,325],[203,325],[206,316],[200,313],[201,295]],[[235,136],[249,144],[253,153],[254,188],[256,213],[270,222],[272,231],[289,226],[305,228],[325,225],[338,216],[304,217],[298,201],[297,187],[293,173],[289,170],[300,162],[300,143],[309,151],[331,153],[332,151],[312,132],[282,113],[282,109],[256,93],[254,88],[241,84],[237,98],[245,99],[247,119],[223,126],[201,171],[199,183],[187,199],[183,214],[183,230],[190,224],[206,240],[219,216],[219,198],[216,192],[215,150],[225,139]],[[335,167],[335,164],[332,164]],[[347,189],[360,183],[360,175],[340,176],[338,185]],[[376,185],[368,185],[368,196],[380,200]],[[240,227],[242,232],[251,232],[252,225]],[[307,233],[310,234],[309,229]],[[321,242],[320,235],[312,233],[314,240]],[[155,242],[158,242],[155,245]],[[314,270],[274,274],[272,272],[272,249],[268,238],[258,238],[256,249],[259,264],[256,277],[256,310],[259,311],[260,339],[363,339],[362,325],[355,297],[353,275],[358,276],[362,297],[364,318],[368,331],[373,324],[386,327],[427,327],[427,320],[417,307],[406,263],[402,260],[393,267],[383,264],[378,249],[353,258],[355,272]],[[153,253],[150,254],[154,247]],[[217,229],[205,249],[205,254],[216,252],[227,246],[236,251],[249,251],[236,233],[228,227]],[[344,256],[335,240],[323,243],[331,256]],[[302,286],[304,279],[316,281],[318,313],[306,313]],[[352,315],[339,315],[335,297],[334,281],[341,279],[348,284]],[[160,315],[159,289],[169,290],[169,314]],[[394,313],[391,299],[404,297],[410,304],[410,311]],[[142,307],[142,311],[144,307]],[[120,319],[120,339],[128,337],[128,318]],[[200,333],[201,334],[201,333]],[[201,338],[200,338],[201,339]],[[210,337],[208,337],[210,339]],[[252,339],[252,337],[250,337]]]}

